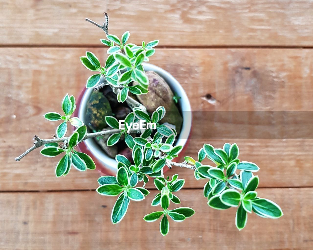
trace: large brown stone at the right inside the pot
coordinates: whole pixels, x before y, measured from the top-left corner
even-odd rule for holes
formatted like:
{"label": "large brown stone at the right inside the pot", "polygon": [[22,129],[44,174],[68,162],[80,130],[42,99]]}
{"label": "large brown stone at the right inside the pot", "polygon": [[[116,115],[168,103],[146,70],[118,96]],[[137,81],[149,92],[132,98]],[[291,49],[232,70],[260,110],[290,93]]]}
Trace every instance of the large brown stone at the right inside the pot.
{"label": "large brown stone at the right inside the pot", "polygon": [[[166,110],[161,123],[169,123],[174,125],[177,133],[180,133],[182,128],[182,115],[180,114],[174,100],[173,92],[165,80],[153,71],[147,71],[146,75],[149,78],[149,93],[138,95],[139,101],[146,106],[147,111],[152,113],[157,107],[163,106]],[[138,83],[134,83],[137,85]]]}

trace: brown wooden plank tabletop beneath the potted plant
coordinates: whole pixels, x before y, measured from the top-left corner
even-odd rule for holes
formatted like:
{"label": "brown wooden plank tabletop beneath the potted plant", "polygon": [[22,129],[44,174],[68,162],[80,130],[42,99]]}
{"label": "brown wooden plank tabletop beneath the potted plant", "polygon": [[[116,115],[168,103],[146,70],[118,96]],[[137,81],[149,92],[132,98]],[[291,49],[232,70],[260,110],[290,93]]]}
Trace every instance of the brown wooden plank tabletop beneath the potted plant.
{"label": "brown wooden plank tabletop beneath the potted plant", "polygon": [[[131,202],[124,220],[112,225],[115,197],[102,197],[97,171],[72,170],[55,178],[55,158],[32,152],[14,158],[38,134],[49,138],[55,124],[48,111],[61,112],[64,94],[76,97],[90,72],[79,57],[106,57],[104,33],[84,21],[102,22],[130,42],[159,39],[151,63],[170,72],[187,92],[193,111],[312,111],[313,3],[269,1],[100,1],[1,0],[0,28],[0,249],[312,249],[313,140],[241,138],[241,160],[259,165],[259,195],[274,200],[284,216],[249,215],[239,232],[235,209],[209,208],[204,181],[188,169],[179,193],[196,214],[171,222],[160,235],[158,222],[142,217],[155,210],[152,195]],[[210,103],[202,97],[210,94]],[[194,123],[204,123],[203,120]],[[214,122],[213,122],[214,123]],[[247,121],[262,125],[262,121]],[[204,124],[203,124],[204,125]],[[217,127],[223,124],[215,124]],[[229,124],[228,124],[229,125]],[[232,124],[230,124],[232,125]],[[233,124],[240,129],[240,124]],[[222,147],[225,139],[203,139],[192,131],[187,155],[203,143]],[[170,172],[174,173],[174,170]],[[152,187],[149,183],[149,187]]]}

